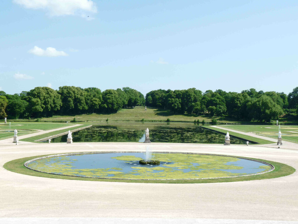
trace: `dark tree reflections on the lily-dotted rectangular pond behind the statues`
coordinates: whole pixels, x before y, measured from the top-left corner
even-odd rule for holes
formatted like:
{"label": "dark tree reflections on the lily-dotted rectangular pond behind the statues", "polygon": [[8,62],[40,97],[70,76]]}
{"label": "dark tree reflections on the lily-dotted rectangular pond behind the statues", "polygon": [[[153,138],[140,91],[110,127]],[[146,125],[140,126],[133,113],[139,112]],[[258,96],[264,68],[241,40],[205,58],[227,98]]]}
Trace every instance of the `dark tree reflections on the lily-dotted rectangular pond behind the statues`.
{"label": "dark tree reflections on the lily-dotted rectangular pond behind the statues", "polygon": [[[132,127],[111,125],[94,125],[90,128],[74,132],[74,142],[138,142],[145,133],[144,130],[135,130]],[[224,134],[209,131],[199,126],[169,126],[157,125],[149,130],[151,142],[184,142],[184,143],[219,143],[224,144]],[[57,137],[52,142],[66,142],[67,135]],[[245,144],[246,142],[230,137],[232,144]]]}

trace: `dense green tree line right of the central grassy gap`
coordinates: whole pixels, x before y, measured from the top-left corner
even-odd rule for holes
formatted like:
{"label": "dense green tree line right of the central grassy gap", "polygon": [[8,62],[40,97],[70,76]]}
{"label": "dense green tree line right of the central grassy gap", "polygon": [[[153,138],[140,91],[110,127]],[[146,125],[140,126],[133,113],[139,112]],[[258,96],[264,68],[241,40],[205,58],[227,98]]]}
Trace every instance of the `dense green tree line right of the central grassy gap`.
{"label": "dense green tree line right of the central grassy gap", "polygon": [[268,122],[284,113],[298,113],[298,87],[288,95],[251,88],[241,93],[223,90],[152,90],[146,94],[146,105],[169,109],[179,114],[230,116],[236,119]]}

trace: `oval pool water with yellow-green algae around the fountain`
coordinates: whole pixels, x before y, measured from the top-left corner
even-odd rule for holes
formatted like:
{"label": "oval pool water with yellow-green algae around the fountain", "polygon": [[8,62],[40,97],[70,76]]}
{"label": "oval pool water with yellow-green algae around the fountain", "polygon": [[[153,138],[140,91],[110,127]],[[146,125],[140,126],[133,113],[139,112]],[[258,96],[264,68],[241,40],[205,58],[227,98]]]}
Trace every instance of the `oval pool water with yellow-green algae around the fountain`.
{"label": "oval pool water with yellow-green algae around the fountain", "polygon": [[238,157],[211,154],[154,153],[160,165],[141,165],[142,152],[61,154],[27,161],[35,171],[111,179],[201,179],[261,174],[269,164]]}

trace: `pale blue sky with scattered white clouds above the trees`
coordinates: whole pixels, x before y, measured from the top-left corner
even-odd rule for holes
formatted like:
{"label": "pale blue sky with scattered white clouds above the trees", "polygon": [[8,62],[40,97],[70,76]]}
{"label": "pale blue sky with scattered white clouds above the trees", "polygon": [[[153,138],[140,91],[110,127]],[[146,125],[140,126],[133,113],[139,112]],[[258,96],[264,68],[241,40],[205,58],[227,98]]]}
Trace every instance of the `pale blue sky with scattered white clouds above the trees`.
{"label": "pale blue sky with scattered white clouds above the trees", "polygon": [[[131,87],[289,93],[297,1],[7,0],[0,89]],[[88,17],[89,16],[89,17]]]}

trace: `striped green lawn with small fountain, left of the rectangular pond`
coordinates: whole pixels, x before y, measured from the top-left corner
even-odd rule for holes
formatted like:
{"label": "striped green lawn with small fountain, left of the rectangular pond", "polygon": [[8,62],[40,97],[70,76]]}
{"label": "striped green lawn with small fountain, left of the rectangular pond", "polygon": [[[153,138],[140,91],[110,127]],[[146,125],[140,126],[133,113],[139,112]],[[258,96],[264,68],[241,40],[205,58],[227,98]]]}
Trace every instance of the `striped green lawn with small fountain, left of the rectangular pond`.
{"label": "striped green lawn with small fountain, left of the rectangular pond", "polygon": [[14,136],[14,130],[17,129],[18,136],[31,134],[37,130],[51,130],[55,128],[62,128],[70,124],[48,123],[48,122],[9,122],[7,124],[0,124],[0,140]]}

